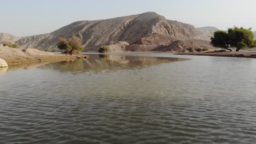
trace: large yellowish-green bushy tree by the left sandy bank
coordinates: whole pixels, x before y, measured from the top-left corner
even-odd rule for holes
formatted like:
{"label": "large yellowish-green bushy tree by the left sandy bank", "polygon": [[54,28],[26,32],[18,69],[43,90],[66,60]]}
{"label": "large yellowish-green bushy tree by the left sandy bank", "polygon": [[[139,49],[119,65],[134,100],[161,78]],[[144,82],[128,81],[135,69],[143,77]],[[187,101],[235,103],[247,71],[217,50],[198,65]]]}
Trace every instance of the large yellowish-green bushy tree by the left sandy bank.
{"label": "large yellowish-green bushy tree by the left sandy bank", "polygon": [[82,46],[81,40],[73,35],[70,39],[60,38],[57,47],[61,50],[66,50],[67,53],[73,51],[82,51],[84,47]]}

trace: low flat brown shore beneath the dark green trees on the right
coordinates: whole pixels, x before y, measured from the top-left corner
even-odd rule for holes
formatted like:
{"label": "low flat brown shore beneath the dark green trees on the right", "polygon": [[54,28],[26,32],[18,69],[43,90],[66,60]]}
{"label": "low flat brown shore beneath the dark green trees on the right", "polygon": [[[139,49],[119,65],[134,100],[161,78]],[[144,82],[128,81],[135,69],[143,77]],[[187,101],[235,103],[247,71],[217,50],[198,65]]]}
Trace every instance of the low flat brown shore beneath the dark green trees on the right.
{"label": "low flat brown shore beneath the dark green trees on the right", "polygon": [[226,52],[218,52],[218,51],[209,51],[209,52],[184,52],[184,53],[176,53],[175,55],[195,55],[195,56],[220,56],[220,57],[248,57],[248,58],[256,58],[256,51],[226,51]]}

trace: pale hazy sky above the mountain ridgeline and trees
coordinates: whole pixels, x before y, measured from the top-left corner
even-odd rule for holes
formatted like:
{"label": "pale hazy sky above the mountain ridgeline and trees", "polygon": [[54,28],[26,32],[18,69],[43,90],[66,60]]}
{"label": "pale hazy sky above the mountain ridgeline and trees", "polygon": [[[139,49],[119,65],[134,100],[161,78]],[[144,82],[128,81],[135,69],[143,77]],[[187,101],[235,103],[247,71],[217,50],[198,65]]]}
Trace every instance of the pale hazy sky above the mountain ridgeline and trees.
{"label": "pale hazy sky above the mountain ridgeline and trees", "polygon": [[147,11],[195,27],[243,26],[256,31],[256,0],[0,0],[0,5],[0,32],[18,36]]}

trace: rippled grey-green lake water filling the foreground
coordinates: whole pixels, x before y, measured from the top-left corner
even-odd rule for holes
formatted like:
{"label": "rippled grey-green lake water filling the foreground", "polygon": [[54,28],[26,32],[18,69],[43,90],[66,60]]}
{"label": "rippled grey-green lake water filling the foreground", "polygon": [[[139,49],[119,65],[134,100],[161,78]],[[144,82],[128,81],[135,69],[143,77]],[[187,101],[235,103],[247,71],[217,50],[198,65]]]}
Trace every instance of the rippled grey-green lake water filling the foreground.
{"label": "rippled grey-green lake water filling the foreground", "polygon": [[1,71],[0,143],[256,142],[256,59],[128,53]]}

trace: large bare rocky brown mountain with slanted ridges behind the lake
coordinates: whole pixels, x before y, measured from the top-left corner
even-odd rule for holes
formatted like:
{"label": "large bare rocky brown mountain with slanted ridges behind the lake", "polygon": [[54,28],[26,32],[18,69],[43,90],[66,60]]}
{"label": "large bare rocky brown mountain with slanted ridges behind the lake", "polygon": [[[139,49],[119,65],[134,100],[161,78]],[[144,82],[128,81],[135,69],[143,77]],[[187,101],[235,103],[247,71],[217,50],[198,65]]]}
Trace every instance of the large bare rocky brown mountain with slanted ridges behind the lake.
{"label": "large bare rocky brown mountain with slanted ridges behind the lake", "polygon": [[171,21],[154,12],[107,20],[77,21],[54,32],[13,39],[24,48],[41,50],[56,47],[60,37],[72,35],[82,40],[84,51],[97,51],[109,45],[110,51],[184,51],[188,47],[211,47],[211,28]]}

